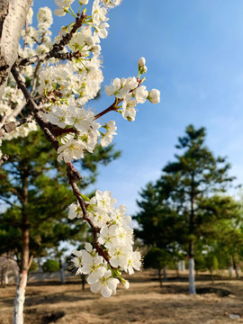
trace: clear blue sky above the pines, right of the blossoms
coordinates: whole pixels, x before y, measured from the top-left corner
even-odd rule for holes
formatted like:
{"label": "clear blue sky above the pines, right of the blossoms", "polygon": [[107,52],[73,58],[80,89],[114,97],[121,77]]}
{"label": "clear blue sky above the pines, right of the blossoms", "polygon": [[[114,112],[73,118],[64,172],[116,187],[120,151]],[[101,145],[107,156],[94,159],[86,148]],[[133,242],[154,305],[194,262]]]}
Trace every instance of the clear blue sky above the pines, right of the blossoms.
{"label": "clear blue sky above the pines, right of the blossoms", "polygon": [[[56,8],[54,1],[39,4]],[[139,104],[133,122],[114,112],[103,119],[116,121],[114,143],[122,156],[100,167],[95,187],[111,190],[130,214],[138,211],[140,188],[173,160],[177,138],[189,123],[207,129],[207,146],[229,157],[231,175],[243,183],[243,2],[123,0],[109,17],[103,88],[115,77],[136,76],[143,56],[145,85],[161,91],[161,103]],[[55,36],[67,19],[54,19]],[[89,105],[100,112],[111,103],[102,91]]]}

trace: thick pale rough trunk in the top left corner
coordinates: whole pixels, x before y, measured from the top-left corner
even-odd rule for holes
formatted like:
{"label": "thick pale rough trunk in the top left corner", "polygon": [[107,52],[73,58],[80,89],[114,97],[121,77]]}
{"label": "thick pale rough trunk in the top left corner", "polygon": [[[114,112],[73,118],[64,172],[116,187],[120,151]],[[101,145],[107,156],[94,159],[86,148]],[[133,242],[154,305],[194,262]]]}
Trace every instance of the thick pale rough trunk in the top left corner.
{"label": "thick pale rough trunk in the top left corner", "polygon": [[0,97],[18,58],[18,46],[32,0],[0,0]]}

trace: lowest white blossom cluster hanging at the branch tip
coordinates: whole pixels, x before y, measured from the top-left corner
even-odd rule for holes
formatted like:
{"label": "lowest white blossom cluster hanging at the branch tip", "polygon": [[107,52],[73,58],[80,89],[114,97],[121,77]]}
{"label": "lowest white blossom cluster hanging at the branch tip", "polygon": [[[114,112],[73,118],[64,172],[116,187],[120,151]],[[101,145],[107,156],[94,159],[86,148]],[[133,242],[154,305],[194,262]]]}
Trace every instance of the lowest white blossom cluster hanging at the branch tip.
{"label": "lowest white blossom cluster hanging at the branch tip", "polygon": [[[116,200],[112,193],[97,190],[95,196],[88,202],[86,211],[94,227],[98,228],[94,247],[86,243],[85,249],[74,250],[71,265],[76,275],[87,276],[87,283],[93,293],[102,293],[110,297],[116,293],[116,286],[121,282],[129,288],[129,282],[121,277],[125,271],[134,274],[134,269],[141,266],[139,251],[133,251],[133,230],[130,229],[130,216],[125,215],[126,207],[114,207]],[[83,211],[76,203],[69,206],[68,218],[82,218]],[[97,252],[95,245],[99,248]]]}

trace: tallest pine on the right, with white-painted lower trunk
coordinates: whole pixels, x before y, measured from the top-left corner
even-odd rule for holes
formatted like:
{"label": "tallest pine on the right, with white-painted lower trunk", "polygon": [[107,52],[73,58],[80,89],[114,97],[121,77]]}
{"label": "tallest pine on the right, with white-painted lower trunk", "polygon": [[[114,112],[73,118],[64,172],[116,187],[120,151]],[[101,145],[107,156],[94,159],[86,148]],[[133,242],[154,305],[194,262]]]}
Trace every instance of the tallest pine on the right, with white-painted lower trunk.
{"label": "tallest pine on the right, with white-painted lower trunk", "polygon": [[205,146],[206,131],[189,125],[185,135],[179,138],[175,162],[168,163],[157,182],[162,197],[171,200],[186,221],[188,237],[189,292],[194,285],[194,243],[197,239],[197,221],[200,218],[200,202],[215,192],[224,192],[233,177],[229,176],[229,163],[224,157],[214,157]]}

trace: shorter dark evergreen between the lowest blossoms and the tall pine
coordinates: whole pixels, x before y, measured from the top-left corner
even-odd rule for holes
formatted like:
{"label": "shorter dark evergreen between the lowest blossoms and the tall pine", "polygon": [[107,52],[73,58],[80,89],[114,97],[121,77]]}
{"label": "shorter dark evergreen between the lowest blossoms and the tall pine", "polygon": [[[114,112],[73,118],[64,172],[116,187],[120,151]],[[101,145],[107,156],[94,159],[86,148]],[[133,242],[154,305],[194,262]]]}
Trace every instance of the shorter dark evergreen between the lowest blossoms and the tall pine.
{"label": "shorter dark evergreen between the lowest blossoms and the tall pine", "polygon": [[139,223],[135,235],[148,247],[157,247],[169,253],[175,261],[181,258],[184,242],[184,222],[178,212],[166,201],[161,200],[156,185],[149,183],[139,193],[137,201],[140,211],[133,216]]}

